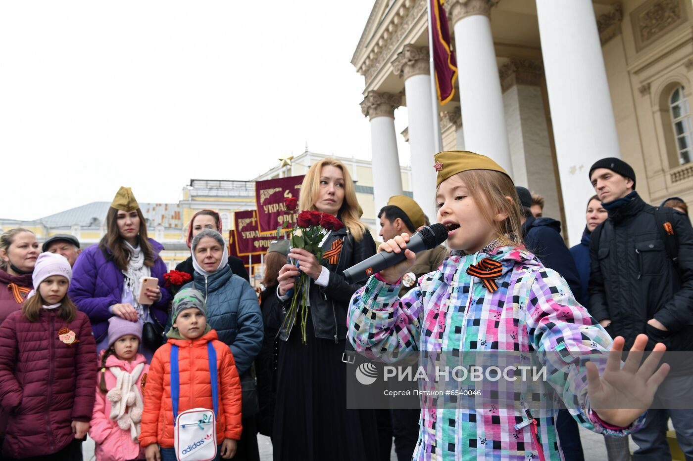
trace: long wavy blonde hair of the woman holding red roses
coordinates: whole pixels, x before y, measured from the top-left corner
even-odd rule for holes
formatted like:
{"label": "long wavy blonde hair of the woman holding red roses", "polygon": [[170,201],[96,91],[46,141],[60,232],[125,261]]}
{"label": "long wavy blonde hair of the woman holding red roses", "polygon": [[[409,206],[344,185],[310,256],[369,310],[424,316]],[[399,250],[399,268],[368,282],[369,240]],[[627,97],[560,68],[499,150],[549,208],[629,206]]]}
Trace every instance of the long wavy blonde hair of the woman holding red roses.
{"label": "long wavy blonde hair of the woman holding red roses", "polygon": [[353,238],[358,242],[362,239],[363,234],[367,232],[367,230],[365,224],[360,221],[361,207],[358,206],[356,189],[353,187],[351,174],[349,174],[349,170],[347,170],[342,162],[336,159],[322,159],[317,163],[313,163],[306,173],[303,183],[301,183],[299,210],[317,210],[317,208],[315,208],[315,200],[320,190],[320,173],[324,166],[339,168],[342,170],[342,174],[344,174],[344,201],[342,202],[339,216],[344,226],[347,226]]}

